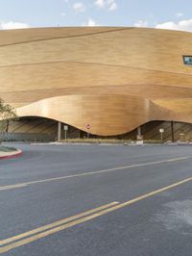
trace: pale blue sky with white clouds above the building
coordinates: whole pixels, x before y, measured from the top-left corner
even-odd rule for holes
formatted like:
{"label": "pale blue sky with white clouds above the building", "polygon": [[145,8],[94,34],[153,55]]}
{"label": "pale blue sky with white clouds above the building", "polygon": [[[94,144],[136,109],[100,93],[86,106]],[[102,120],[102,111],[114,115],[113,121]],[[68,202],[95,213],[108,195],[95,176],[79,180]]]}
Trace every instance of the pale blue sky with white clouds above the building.
{"label": "pale blue sky with white clouds above the building", "polygon": [[152,27],[192,32],[192,0],[0,0],[0,29]]}

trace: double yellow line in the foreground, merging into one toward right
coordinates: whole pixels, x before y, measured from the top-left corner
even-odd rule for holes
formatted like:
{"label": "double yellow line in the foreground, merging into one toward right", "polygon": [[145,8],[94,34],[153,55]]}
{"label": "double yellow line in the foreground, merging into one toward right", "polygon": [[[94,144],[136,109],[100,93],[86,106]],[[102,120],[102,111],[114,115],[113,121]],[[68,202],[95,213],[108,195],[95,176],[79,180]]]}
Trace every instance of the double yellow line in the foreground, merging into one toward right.
{"label": "double yellow line in the foreground, merging into one toward right", "polygon": [[120,208],[129,206],[135,202],[138,202],[140,200],[143,200],[145,198],[151,197],[153,195],[156,195],[159,192],[165,192],[168,191],[170,189],[173,189],[175,187],[178,187],[186,182],[190,182],[192,181],[192,177],[189,177],[187,179],[181,180],[177,183],[174,183],[172,185],[169,185],[167,187],[163,187],[159,190],[156,190],[154,192],[148,192],[146,194],[143,194],[141,196],[138,196],[136,198],[133,198],[132,200],[129,200],[127,202],[124,203],[119,203],[119,202],[111,202],[108,203],[106,205],[97,207],[95,209],[86,211],[84,213],[81,213],[79,215],[73,216],[73,217],[69,217],[69,218],[63,218],[59,221],[56,221],[54,223],[48,224],[48,225],[44,225],[41,227],[38,227],[36,229],[33,229],[31,231],[19,234],[17,236],[14,236],[12,238],[9,239],[5,239],[0,241],[0,254],[10,251],[13,248],[16,248],[18,246],[24,245],[26,243],[32,243],[35,242],[38,239],[41,238],[45,238],[51,234],[60,232],[63,229],[66,229],[68,227],[72,227],[74,225],[83,223],[84,221],[88,221],[91,220],[93,218],[98,218],[100,216],[106,215],[109,212],[118,210]]}

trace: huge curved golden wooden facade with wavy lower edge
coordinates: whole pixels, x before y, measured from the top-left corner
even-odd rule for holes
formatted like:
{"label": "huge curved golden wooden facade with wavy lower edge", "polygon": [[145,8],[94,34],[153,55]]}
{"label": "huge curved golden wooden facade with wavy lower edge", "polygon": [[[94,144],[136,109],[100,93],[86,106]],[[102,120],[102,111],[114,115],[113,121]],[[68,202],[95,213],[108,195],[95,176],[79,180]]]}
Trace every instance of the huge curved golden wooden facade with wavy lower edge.
{"label": "huge curved golden wooden facade with wavy lower edge", "polygon": [[100,136],[152,120],[192,123],[192,34],[143,28],[0,31],[0,97],[20,116]]}

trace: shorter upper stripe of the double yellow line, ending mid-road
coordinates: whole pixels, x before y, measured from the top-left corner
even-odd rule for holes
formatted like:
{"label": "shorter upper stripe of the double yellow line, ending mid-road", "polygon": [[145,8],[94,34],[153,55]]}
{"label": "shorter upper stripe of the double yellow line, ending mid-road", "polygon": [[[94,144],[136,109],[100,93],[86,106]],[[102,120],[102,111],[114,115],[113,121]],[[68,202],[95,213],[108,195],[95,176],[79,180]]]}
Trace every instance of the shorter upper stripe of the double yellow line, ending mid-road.
{"label": "shorter upper stripe of the double yellow line, ending mid-road", "polygon": [[4,245],[6,243],[12,243],[16,240],[19,240],[19,239],[22,239],[22,238],[25,238],[25,237],[29,237],[31,235],[34,235],[36,233],[39,233],[39,232],[42,232],[42,231],[45,231],[47,229],[50,229],[50,228],[53,228],[53,227],[56,227],[56,226],[59,226],[61,224],[64,224],[66,222],[69,222],[69,221],[72,221],[72,220],[75,220],[77,218],[83,218],[84,216],[87,216],[87,215],[91,215],[91,214],[94,214],[96,212],[99,212],[99,211],[102,211],[104,209],[107,209],[108,207],[111,207],[111,206],[114,206],[114,205],[117,205],[119,204],[119,202],[111,202],[111,203],[108,203],[106,205],[102,205],[100,207],[97,207],[97,208],[94,208],[94,209],[91,209],[91,210],[88,210],[84,213],[81,213],[81,214],[78,214],[76,216],[72,216],[72,217],[69,217],[69,218],[63,218],[59,221],[56,221],[56,222],[53,222],[51,224],[48,224],[48,225],[44,225],[44,226],[41,226],[41,227],[38,227],[38,228],[35,228],[31,231],[28,231],[28,232],[25,232],[25,233],[22,233],[20,235],[17,235],[17,236],[14,236],[12,238],[9,238],[9,239],[5,239],[5,240],[1,240],[0,241],[0,245]]}

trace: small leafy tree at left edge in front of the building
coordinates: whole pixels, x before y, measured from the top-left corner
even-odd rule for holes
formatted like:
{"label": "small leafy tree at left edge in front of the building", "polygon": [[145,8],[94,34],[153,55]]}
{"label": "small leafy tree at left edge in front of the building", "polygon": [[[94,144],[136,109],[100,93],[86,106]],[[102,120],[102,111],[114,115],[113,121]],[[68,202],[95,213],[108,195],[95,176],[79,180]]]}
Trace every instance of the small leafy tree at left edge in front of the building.
{"label": "small leafy tree at left edge in front of the building", "polygon": [[11,105],[6,104],[3,99],[0,98],[0,143],[3,140],[3,136],[8,132],[9,119],[15,119],[17,115]]}

